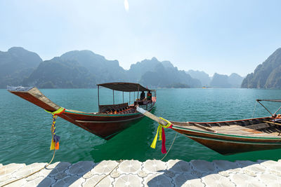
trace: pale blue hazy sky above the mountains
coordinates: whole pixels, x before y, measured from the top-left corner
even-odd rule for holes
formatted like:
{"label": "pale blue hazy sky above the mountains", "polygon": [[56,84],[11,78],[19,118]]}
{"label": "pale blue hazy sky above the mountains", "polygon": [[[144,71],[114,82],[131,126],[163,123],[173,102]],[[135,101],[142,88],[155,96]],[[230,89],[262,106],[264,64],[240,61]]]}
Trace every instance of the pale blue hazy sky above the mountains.
{"label": "pale blue hazy sky above the mountains", "polygon": [[0,0],[0,50],[44,60],[92,50],[130,64],[157,57],[178,69],[245,76],[281,47],[281,1]]}

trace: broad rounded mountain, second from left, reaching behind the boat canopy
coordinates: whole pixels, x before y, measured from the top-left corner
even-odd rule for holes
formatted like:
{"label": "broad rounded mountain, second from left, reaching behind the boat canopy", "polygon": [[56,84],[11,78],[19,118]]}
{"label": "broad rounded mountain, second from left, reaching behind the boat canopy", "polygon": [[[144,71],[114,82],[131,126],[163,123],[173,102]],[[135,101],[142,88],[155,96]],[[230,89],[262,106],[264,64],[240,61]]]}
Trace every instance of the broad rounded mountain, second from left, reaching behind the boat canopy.
{"label": "broad rounded mountain, second from left, reaching behind the boat canopy", "polygon": [[96,88],[97,83],[127,79],[117,60],[106,60],[90,50],[74,50],[41,62],[23,84],[39,88]]}

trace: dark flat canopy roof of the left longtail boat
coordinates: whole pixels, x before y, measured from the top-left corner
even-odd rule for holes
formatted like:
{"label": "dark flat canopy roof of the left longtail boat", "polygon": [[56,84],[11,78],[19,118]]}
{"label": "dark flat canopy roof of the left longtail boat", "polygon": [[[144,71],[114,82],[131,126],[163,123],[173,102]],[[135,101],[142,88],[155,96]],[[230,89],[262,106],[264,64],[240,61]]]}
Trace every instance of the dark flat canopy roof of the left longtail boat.
{"label": "dark flat canopy roof of the left longtail boat", "polygon": [[103,83],[98,85],[103,86],[105,88],[109,88],[111,90],[117,90],[122,92],[153,91],[143,87],[138,83]]}

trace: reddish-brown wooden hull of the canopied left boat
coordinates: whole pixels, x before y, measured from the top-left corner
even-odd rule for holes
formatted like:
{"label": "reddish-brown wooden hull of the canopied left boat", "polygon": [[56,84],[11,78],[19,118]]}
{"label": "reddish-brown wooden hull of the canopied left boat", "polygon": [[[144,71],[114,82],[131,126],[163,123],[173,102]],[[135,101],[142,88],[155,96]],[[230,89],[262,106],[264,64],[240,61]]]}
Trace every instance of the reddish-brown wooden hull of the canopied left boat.
{"label": "reddish-brown wooden hull of the canopied left boat", "polygon": [[[60,106],[51,102],[45,95],[43,95],[37,88],[13,88],[8,90],[9,92],[25,99],[33,104],[45,109],[46,111],[57,111]],[[156,98],[155,98],[156,102]],[[148,104],[148,111],[151,111],[155,102]],[[65,109],[63,113],[58,114],[60,118],[63,118],[74,125],[77,125],[84,130],[96,134],[103,139],[111,139],[122,130],[130,127],[143,118],[142,113],[86,113],[82,111],[73,111]]]}

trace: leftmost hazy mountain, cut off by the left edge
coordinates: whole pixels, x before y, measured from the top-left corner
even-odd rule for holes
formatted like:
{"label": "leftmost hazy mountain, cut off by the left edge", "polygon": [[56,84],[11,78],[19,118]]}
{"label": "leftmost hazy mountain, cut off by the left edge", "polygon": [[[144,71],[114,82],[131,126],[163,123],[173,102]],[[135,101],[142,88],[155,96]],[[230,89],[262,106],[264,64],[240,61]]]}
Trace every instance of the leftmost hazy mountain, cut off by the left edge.
{"label": "leftmost hazy mountain, cut off by the left edge", "polygon": [[30,76],[32,71],[42,62],[37,53],[20,47],[0,51],[0,88],[6,85],[19,85],[22,78]]}

